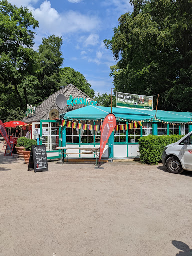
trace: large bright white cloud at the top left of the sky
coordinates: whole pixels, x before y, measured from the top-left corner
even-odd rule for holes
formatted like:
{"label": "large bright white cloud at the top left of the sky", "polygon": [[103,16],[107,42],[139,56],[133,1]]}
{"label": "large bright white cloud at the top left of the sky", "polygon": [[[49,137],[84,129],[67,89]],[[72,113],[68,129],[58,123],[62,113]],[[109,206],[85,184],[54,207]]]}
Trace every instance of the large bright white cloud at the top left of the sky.
{"label": "large bright white cloud at the top left of the sky", "polygon": [[[29,7],[39,21],[39,30],[43,34],[70,34],[74,32],[90,32],[99,25],[98,17],[83,15],[69,10],[65,13],[51,7],[50,1],[44,1],[39,8]],[[88,43],[88,42],[87,42]]]}

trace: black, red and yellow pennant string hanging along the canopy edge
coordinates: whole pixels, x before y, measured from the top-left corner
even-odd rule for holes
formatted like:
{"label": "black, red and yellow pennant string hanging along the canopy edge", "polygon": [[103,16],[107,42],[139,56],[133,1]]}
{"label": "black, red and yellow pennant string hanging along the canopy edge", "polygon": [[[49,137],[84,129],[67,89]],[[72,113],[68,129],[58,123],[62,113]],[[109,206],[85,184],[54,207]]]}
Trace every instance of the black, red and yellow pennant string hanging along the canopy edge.
{"label": "black, red and yellow pennant string hanging along the canopy edge", "polygon": [[[115,126],[115,130],[128,130],[132,129],[132,128],[137,128],[138,124],[140,126],[142,126],[142,122],[141,121],[137,121],[137,122],[131,122],[129,124],[120,124],[120,125],[116,125]],[[76,123],[76,122],[71,122],[71,121],[66,121],[66,120],[62,120],[62,126],[66,126],[67,128],[73,128],[73,129],[83,129],[83,130],[101,130],[102,125],[92,125],[92,124],[82,124],[82,123]]]}

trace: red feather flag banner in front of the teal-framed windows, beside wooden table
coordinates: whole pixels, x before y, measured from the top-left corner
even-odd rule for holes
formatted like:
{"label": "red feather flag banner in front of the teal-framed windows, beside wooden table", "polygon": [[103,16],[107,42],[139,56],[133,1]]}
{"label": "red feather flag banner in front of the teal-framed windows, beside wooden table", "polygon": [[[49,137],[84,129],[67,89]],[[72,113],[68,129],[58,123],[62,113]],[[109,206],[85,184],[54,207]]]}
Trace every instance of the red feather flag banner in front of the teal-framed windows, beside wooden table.
{"label": "red feather flag banner in front of the teal-framed windows, beside wooden table", "polygon": [[102,123],[101,135],[100,135],[100,155],[99,162],[102,157],[105,145],[116,126],[116,117],[114,114],[108,114]]}

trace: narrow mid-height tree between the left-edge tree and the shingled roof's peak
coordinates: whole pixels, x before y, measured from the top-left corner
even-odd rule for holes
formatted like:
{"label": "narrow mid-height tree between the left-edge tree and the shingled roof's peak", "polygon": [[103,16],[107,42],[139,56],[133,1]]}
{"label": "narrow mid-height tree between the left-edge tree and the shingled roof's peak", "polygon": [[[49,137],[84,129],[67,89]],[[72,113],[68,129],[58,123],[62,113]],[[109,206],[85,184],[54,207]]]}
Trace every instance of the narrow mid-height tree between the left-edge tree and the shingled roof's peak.
{"label": "narrow mid-height tree between the left-edge tree and the shingled roof's peak", "polygon": [[37,76],[40,82],[39,101],[46,99],[56,92],[59,88],[60,66],[63,63],[62,38],[51,35],[48,38],[42,38],[42,44],[39,46],[39,68]]}

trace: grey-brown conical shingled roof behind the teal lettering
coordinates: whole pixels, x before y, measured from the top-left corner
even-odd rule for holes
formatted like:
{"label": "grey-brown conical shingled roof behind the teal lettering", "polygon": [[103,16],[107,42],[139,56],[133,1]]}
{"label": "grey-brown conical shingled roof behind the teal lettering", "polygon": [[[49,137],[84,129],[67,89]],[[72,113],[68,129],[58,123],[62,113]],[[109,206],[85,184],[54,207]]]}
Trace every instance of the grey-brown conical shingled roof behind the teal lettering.
{"label": "grey-brown conical shingled roof behind the teal lettering", "polygon": [[[66,87],[58,90],[54,94],[52,94],[50,97],[48,97],[44,102],[42,102],[39,106],[36,107],[35,116],[32,117],[25,117],[22,119],[23,122],[31,123],[31,122],[39,122],[40,120],[48,120],[49,119],[49,112],[51,109],[57,109],[59,110],[59,114],[65,113],[66,109],[59,109],[56,104],[56,96],[58,94],[63,94],[66,99],[68,100],[70,95],[72,95],[73,98],[90,98],[88,95],[86,95],[84,92],[79,90],[77,87],[75,87],[72,84],[68,84]],[[90,98],[93,100],[92,98]],[[97,104],[98,105],[98,104]],[[67,108],[67,111],[75,110],[78,108],[84,107],[84,105],[74,105]]]}

